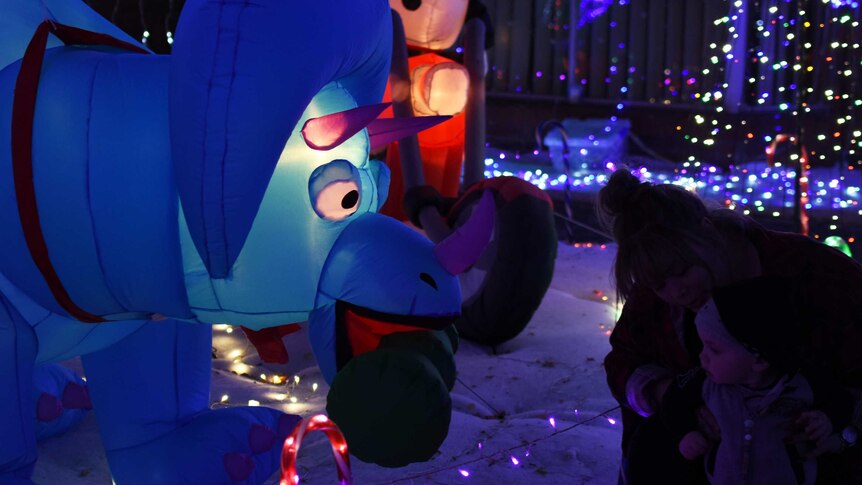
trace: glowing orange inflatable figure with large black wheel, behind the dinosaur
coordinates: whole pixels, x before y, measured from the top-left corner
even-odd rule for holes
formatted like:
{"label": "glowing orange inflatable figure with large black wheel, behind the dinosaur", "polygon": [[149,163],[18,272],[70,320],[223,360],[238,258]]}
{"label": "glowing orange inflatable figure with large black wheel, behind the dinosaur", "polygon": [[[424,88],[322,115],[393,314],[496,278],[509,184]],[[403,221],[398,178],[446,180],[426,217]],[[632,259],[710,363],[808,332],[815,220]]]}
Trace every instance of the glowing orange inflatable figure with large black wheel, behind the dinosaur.
{"label": "glowing orange inflatable figure with large black wheel, behind the dinosaur", "polygon": [[[493,31],[481,2],[389,4],[403,19],[403,29],[400,22],[394,29],[387,93],[395,116],[453,118],[419,134],[418,140],[410,137],[390,146],[386,163],[393,174],[392,196],[383,212],[402,219],[409,216],[433,241],[440,241],[467,221],[483,191],[493,195],[497,209],[493,241],[459,277],[463,303],[456,326],[462,337],[496,345],[523,331],[550,286],[557,253],[551,199],[518,178],[484,180],[485,49]],[[407,56],[408,47],[451,47],[462,27],[463,66],[435,53]]]}

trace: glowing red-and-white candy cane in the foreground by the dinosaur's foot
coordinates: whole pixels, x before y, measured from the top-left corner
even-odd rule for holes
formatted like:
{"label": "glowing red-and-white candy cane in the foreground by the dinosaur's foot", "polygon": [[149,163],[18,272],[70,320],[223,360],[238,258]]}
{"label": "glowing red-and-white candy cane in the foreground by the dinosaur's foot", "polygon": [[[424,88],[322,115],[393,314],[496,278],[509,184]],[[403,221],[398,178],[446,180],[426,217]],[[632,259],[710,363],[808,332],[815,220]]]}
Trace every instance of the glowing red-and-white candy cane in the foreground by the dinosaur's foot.
{"label": "glowing red-and-white candy cane in the foreground by the dinosaur's foot", "polygon": [[306,433],[312,431],[323,431],[332,445],[332,456],[338,465],[338,481],[341,485],[352,485],[353,478],[350,475],[350,455],[347,453],[347,440],[341,434],[338,426],[323,414],[312,416],[297,426],[290,436],[284,440],[281,449],[281,481],[280,485],[298,485],[299,474],[296,472],[296,455],[299,453],[299,445]]}

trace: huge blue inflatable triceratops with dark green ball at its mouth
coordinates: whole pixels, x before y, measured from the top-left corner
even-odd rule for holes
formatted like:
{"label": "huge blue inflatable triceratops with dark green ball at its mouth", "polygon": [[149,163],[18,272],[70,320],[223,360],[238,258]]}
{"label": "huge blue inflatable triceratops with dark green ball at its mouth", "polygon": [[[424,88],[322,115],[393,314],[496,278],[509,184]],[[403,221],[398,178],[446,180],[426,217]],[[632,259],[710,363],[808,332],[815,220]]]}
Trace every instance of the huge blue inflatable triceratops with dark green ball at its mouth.
{"label": "huge blue inflatable triceratops with dark green ball at its mouth", "polygon": [[[34,366],[77,355],[89,389],[68,404],[92,404],[117,483],[272,476],[299,417],[209,409],[213,322],[308,320],[351,451],[430,457],[451,413],[454,272],[494,213],[486,198],[436,245],[375,213],[388,170],[369,151],[439,121],[376,119],[386,2],[190,0],[171,56],[41,3],[9,17],[26,42],[0,36],[20,58],[0,70],[0,482],[36,460]],[[21,5],[0,1],[4,22]]]}

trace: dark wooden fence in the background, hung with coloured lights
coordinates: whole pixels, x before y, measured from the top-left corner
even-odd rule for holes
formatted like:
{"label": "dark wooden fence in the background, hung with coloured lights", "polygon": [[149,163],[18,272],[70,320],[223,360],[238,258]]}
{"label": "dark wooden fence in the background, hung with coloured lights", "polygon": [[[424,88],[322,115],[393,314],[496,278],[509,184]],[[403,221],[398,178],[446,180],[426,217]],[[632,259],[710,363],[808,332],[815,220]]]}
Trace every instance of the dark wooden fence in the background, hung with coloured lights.
{"label": "dark wooden fence in the background, hung with coloured lights", "polygon": [[[859,71],[860,9],[822,0],[616,0],[580,26],[589,12],[579,0],[485,3],[496,28],[491,93],[694,104],[722,91],[722,103],[749,109],[792,104],[801,84],[853,92],[856,76],[836,66]],[[836,15],[849,20],[829,22]],[[835,39],[846,45],[830,58]],[[796,56],[813,71],[794,70]]]}

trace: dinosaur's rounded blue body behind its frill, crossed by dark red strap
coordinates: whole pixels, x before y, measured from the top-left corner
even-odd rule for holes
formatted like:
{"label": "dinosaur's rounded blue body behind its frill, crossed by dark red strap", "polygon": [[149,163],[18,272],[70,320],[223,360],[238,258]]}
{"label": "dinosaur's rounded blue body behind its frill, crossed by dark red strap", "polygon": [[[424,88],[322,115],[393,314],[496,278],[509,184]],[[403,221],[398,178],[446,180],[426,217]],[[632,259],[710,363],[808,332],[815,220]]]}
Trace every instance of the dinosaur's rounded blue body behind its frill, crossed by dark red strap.
{"label": "dinosaur's rounded blue body behind its frill, crossed by dark red strap", "polygon": [[[0,146],[11,146],[20,64],[0,72]],[[71,300],[111,318],[190,316],[170,163],[167,58],[75,47],[45,56],[33,183],[49,259]],[[65,313],[21,230],[11,150],[0,153],[0,272]]]}

